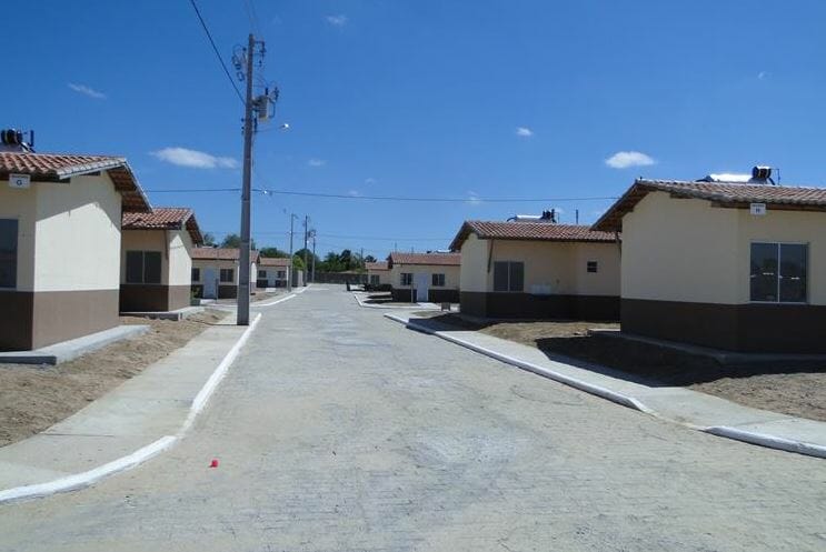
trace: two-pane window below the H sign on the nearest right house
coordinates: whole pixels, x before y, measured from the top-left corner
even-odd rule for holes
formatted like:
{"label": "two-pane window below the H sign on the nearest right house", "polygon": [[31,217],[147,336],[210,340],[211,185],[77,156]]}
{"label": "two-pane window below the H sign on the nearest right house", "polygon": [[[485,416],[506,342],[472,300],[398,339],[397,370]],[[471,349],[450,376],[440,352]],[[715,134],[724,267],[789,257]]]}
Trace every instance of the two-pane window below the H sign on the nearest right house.
{"label": "two-pane window below the H sign on the nearest right house", "polygon": [[769,303],[805,303],[807,272],[808,245],[752,243],[750,300]]}

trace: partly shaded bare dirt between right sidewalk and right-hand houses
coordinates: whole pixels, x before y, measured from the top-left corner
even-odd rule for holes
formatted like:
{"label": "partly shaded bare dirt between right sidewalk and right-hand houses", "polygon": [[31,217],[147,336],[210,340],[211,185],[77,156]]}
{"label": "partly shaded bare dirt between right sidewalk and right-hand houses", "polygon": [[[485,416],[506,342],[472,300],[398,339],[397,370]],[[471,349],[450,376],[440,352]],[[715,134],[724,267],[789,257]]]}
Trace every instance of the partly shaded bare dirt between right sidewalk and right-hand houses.
{"label": "partly shaded bare dirt between right sidewalk and right-hand houses", "polygon": [[634,374],[654,385],[678,385],[746,407],[826,421],[826,362],[723,365],[707,357],[617,338],[588,335],[604,322],[477,324],[456,315],[439,321]]}

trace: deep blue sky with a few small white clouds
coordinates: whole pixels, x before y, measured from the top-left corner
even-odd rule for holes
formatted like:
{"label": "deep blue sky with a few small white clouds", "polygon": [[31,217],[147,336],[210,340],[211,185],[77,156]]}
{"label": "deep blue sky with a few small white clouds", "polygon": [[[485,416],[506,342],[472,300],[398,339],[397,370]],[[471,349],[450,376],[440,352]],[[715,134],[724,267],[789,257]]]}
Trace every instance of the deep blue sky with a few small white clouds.
{"label": "deep blue sky with a few small white clouds", "polygon": [[[256,187],[468,199],[256,194],[259,245],[287,248],[290,212],[312,219],[321,254],[385,257],[446,248],[466,219],[557,208],[590,222],[610,204],[472,198],[615,197],[637,175],[757,162],[785,183],[824,184],[826,2],[253,4],[263,74],[281,89],[256,139]],[[245,2],[199,6],[229,60],[250,30]],[[32,0],[4,13],[3,127],[34,129],[41,152],[126,155],[147,190],[240,185],[241,106],[188,0]],[[195,208],[219,238],[238,231],[235,192],[150,199]]]}

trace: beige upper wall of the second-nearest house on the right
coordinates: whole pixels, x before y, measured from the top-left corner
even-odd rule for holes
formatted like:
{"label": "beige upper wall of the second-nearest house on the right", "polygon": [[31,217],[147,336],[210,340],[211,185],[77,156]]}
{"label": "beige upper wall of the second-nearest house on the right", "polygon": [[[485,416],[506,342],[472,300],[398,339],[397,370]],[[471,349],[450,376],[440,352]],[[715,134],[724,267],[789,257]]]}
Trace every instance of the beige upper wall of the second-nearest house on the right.
{"label": "beige upper wall of the second-nearest house on the right", "polygon": [[[490,270],[488,270],[490,255]],[[480,240],[470,234],[461,248],[461,291],[492,292],[494,262],[525,264],[525,293],[619,295],[620,260],[616,243]],[[597,261],[597,272],[588,272]]]}

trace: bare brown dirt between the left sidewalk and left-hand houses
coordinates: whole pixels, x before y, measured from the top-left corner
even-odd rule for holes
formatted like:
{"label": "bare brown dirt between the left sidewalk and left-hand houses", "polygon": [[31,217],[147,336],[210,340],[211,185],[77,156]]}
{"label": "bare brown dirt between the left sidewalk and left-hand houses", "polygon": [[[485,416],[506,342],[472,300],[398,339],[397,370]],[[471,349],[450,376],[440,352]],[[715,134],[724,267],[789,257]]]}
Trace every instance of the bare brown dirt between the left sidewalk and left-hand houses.
{"label": "bare brown dirt between the left sidewalk and left-hand houses", "polygon": [[70,416],[226,315],[206,310],[180,322],[123,317],[121,323],[151,330],[56,367],[0,364],[0,446]]}

